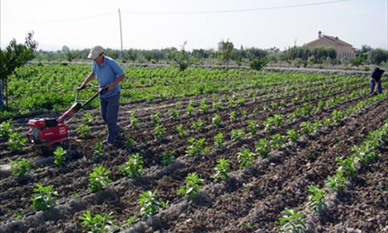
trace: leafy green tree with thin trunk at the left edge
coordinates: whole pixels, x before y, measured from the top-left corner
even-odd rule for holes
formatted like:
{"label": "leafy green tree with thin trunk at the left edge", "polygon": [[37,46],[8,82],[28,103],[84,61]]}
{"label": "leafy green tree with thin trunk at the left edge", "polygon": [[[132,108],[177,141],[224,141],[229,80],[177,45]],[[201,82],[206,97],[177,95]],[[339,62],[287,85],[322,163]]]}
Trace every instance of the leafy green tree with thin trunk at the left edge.
{"label": "leafy green tree with thin trunk at the left edge", "polygon": [[26,36],[24,44],[16,44],[16,39],[11,40],[5,50],[0,48],[0,79],[5,83],[5,101],[8,107],[8,76],[17,67],[21,67],[35,57],[38,42],[32,40],[33,32]]}

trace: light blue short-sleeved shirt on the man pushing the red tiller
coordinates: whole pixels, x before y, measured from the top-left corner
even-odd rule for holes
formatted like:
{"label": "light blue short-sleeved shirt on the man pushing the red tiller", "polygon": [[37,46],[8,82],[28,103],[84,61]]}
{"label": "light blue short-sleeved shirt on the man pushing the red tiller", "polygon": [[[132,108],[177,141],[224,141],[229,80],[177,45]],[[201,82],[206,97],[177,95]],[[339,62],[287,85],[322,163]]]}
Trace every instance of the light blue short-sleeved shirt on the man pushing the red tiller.
{"label": "light blue short-sleeved shirt on the man pushing the red tiller", "polygon": [[[124,74],[123,69],[110,57],[104,56],[104,62],[100,66],[97,62],[93,61],[92,72],[96,75],[98,84],[100,86],[106,86],[111,84],[119,76]],[[107,91],[105,94],[100,95],[101,99],[108,99],[117,95],[120,92],[120,83],[114,86],[112,91]]]}

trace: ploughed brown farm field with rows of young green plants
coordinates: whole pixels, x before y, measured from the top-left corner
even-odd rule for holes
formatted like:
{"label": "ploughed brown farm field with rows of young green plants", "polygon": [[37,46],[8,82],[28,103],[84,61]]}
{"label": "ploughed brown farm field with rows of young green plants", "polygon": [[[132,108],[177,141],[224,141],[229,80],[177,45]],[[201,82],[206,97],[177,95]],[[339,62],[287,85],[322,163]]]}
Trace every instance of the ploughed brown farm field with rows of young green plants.
{"label": "ploughed brown farm field with rows of young green plants", "polygon": [[[68,123],[80,141],[62,167],[28,143],[15,146],[29,119],[71,106],[89,70],[34,65],[10,78],[17,111],[1,115],[16,117],[3,121],[10,134],[1,137],[0,164],[28,159],[31,169],[1,172],[1,232],[82,232],[87,211],[113,232],[287,232],[287,223],[307,232],[387,230],[388,96],[387,88],[370,95],[369,78],[126,67],[116,145],[100,145],[106,129],[94,101]],[[142,166],[125,174],[127,161]],[[97,166],[110,181],[95,191]],[[34,209],[34,183],[53,185],[52,208]],[[314,185],[324,195],[312,202]],[[148,212],[139,201],[147,191],[155,195],[146,193]],[[286,208],[299,222],[280,221]]]}

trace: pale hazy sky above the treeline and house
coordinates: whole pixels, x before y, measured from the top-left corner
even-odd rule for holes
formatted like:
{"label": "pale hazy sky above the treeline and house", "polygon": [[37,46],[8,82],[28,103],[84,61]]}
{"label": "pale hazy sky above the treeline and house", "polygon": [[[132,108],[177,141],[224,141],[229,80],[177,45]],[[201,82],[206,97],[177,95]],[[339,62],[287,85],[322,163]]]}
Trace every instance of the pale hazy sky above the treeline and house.
{"label": "pale hazy sky above the treeline and house", "polygon": [[[388,46],[387,0],[1,0],[0,46],[29,31],[38,50],[279,48],[323,34],[353,45]],[[323,4],[321,4],[323,3]],[[301,6],[302,5],[302,6]],[[291,7],[294,6],[294,7]]]}

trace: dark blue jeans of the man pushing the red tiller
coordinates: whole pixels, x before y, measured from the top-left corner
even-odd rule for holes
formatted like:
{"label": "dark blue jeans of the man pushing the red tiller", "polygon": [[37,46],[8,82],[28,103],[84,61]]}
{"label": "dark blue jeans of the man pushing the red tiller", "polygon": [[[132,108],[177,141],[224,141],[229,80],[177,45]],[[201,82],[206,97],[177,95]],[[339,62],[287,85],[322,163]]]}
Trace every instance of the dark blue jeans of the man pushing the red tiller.
{"label": "dark blue jeans of the man pushing the red tiller", "polygon": [[107,141],[113,143],[117,134],[121,130],[117,123],[118,108],[120,106],[120,93],[106,100],[100,99],[101,116],[105,124],[108,125]]}

